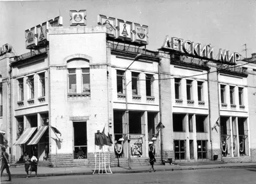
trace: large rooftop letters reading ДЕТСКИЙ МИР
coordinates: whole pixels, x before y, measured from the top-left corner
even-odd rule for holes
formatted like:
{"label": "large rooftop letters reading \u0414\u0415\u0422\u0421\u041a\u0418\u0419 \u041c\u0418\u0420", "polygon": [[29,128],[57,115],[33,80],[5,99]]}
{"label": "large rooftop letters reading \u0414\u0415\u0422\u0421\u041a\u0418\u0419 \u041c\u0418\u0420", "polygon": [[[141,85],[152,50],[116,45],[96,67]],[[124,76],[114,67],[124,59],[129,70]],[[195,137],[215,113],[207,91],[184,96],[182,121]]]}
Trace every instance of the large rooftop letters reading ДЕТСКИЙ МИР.
{"label": "large rooftop letters reading \u0414\u0415\u0422\u0421\u041a\u0418\u0419 \u041c\u0418\u0420", "polygon": [[[200,43],[195,43],[193,41],[186,40],[181,38],[172,37],[171,40],[166,36],[162,48],[168,48],[170,50],[177,50],[179,52],[184,52],[189,55],[195,55],[198,57],[205,57],[205,59],[214,59],[213,58],[213,47],[211,45],[205,45],[202,47]],[[240,55],[237,52],[232,54],[229,51],[225,51],[220,48],[218,53],[218,61],[220,62],[229,62],[230,64],[236,63],[240,59]]]}

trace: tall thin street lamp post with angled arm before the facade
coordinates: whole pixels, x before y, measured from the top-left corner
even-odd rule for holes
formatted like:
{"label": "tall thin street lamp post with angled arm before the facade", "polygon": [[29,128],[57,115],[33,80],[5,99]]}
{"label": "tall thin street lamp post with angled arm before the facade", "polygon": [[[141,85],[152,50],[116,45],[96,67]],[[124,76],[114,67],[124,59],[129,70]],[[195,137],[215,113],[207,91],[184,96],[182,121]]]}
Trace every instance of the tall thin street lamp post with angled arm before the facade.
{"label": "tall thin street lamp post with angled arm before the facade", "polygon": [[128,138],[128,163],[129,169],[131,169],[131,148],[130,148],[130,132],[129,132],[129,109],[128,109],[128,100],[127,100],[127,84],[126,84],[126,71],[127,69],[134,63],[134,61],[139,60],[141,58],[141,53],[136,55],[132,63],[125,69],[124,71],[124,84],[125,84],[125,122],[126,122],[126,131]]}

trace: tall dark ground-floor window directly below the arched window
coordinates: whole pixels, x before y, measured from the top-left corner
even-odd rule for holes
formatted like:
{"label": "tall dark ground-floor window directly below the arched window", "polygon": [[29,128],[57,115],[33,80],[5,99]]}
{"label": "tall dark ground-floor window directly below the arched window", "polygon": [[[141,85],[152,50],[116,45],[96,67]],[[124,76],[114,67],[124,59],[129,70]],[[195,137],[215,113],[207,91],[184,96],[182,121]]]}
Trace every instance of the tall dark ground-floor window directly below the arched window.
{"label": "tall dark ground-floor window directly below the arched window", "polygon": [[74,159],[87,159],[86,122],[73,122],[74,127]]}

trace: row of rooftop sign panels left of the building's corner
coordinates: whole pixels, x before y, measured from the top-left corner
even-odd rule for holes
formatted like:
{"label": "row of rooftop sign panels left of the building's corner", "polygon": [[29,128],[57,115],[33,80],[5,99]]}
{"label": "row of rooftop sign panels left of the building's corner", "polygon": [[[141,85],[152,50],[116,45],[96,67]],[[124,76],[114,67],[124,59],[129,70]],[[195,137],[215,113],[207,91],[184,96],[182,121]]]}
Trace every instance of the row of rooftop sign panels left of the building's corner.
{"label": "row of rooftop sign panels left of the building's corner", "polygon": [[49,26],[58,27],[63,25],[62,17],[56,17],[47,22],[44,22],[42,25],[36,25],[36,27],[32,27],[31,29],[27,29],[25,31],[26,37],[26,48],[27,49],[37,49],[40,47],[44,47],[45,44],[49,41]]}

